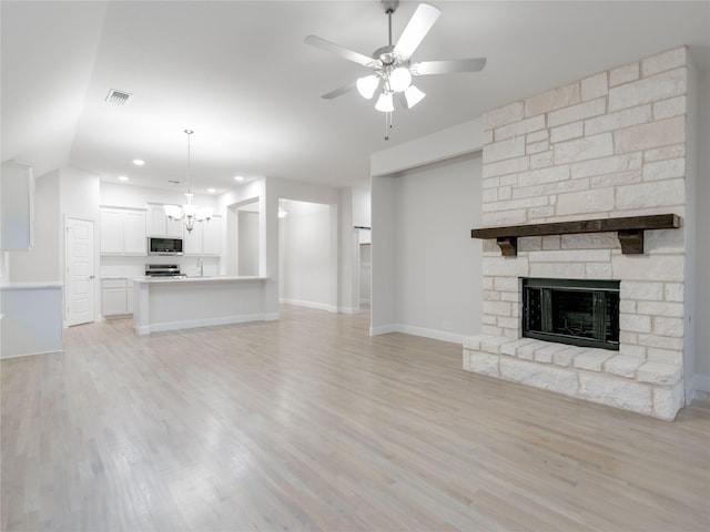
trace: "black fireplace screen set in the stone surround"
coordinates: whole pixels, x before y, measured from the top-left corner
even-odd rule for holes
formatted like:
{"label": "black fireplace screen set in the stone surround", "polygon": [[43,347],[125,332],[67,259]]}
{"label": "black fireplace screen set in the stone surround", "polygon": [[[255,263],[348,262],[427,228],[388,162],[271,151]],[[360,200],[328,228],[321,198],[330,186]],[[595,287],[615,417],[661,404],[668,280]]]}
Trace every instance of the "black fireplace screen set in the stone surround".
{"label": "black fireplace screen set in the stone surround", "polygon": [[523,279],[523,336],[619,350],[619,282]]}

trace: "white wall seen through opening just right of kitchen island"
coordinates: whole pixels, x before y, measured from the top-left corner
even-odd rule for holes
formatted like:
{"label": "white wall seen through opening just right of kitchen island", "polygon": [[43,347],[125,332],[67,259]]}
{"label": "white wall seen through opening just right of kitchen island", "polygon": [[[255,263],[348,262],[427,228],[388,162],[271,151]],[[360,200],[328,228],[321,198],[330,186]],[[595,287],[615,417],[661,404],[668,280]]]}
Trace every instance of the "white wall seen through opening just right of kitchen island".
{"label": "white wall seen through opening just right of kitchen island", "polygon": [[336,311],[332,293],[331,207],[284,202],[288,216],[280,221],[280,299],[283,303]]}

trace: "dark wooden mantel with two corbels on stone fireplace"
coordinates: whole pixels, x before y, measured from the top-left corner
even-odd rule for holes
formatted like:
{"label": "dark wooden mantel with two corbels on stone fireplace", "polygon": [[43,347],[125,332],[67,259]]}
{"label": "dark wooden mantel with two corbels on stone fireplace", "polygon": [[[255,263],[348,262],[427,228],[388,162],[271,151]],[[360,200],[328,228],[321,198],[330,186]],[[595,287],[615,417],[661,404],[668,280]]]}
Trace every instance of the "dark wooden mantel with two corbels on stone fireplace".
{"label": "dark wooden mantel with two corbels on stone fireplace", "polygon": [[496,238],[504,256],[518,254],[518,236],[574,235],[580,233],[609,233],[616,231],[625,255],[643,254],[643,231],[671,229],[681,226],[677,214],[652,214],[625,218],[580,219],[549,224],[509,225],[470,229],[471,238]]}

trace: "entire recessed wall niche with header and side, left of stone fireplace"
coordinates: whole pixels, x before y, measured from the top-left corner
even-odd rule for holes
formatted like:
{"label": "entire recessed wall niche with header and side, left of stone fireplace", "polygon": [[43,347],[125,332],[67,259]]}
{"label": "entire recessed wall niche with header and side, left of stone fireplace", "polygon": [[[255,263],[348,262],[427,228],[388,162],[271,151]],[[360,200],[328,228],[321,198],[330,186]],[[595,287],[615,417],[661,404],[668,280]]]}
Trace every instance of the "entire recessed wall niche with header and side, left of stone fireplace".
{"label": "entire recessed wall niche with header and side, left of stone fireplace", "polygon": [[478,332],[481,145],[475,120],[373,154],[371,334]]}

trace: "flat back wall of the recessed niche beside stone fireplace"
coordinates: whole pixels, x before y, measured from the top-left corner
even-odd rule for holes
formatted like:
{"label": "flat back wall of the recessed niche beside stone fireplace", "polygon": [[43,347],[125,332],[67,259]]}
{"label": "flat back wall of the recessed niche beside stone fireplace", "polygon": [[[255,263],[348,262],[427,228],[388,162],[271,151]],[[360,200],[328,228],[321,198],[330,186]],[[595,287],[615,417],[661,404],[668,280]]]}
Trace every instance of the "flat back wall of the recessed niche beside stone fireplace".
{"label": "flat back wall of the recessed niche beside stone fireplace", "polygon": [[480,154],[395,178],[396,316],[399,330],[458,340],[481,323]]}

